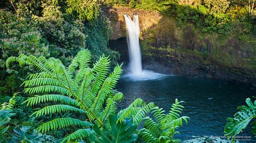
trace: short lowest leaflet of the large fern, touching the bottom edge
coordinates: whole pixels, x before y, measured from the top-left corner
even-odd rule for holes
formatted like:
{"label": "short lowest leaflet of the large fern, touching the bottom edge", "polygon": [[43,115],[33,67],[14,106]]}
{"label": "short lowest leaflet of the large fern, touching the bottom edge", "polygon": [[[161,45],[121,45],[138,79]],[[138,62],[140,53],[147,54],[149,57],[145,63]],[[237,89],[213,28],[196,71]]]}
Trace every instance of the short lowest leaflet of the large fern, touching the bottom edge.
{"label": "short lowest leaflet of the large fern, touching the bottom edge", "polygon": [[71,134],[69,134],[67,137],[65,137],[62,142],[69,142],[69,141],[77,141],[78,139],[86,139],[88,136],[92,133],[92,130],[90,128],[86,129],[79,129]]}

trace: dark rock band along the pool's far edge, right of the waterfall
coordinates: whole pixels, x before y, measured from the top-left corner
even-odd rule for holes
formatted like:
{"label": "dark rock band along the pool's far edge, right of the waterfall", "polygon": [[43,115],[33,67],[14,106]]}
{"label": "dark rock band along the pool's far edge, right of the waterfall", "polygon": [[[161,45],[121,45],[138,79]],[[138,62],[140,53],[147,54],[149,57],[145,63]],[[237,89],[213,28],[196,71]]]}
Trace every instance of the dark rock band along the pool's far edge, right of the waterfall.
{"label": "dark rock band along the pool's far edge, right of the waterfall", "polygon": [[151,55],[143,54],[145,69],[163,74],[176,74],[187,77],[209,77],[227,81],[234,81],[256,86],[256,76],[248,69],[225,68],[213,63],[205,63],[193,55],[183,53],[169,53],[151,50]]}

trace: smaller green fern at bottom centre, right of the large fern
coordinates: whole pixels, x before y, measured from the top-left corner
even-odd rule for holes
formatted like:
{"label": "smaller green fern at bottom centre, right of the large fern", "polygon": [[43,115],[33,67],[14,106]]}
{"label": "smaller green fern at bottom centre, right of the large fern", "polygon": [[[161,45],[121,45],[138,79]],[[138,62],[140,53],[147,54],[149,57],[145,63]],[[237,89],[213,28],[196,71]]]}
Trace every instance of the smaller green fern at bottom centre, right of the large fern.
{"label": "smaller green fern at bottom centre, right of the large fern", "polygon": [[180,105],[177,99],[172,104],[169,113],[165,115],[162,108],[156,106],[151,110],[152,116],[144,118],[144,128],[139,130],[139,135],[147,142],[173,142],[173,135],[179,133],[176,129],[183,125],[183,121],[187,123],[189,119],[186,116],[180,117],[184,106]]}

